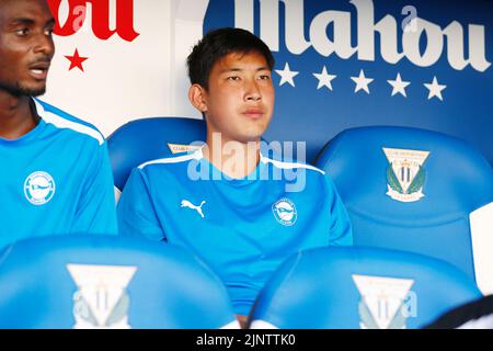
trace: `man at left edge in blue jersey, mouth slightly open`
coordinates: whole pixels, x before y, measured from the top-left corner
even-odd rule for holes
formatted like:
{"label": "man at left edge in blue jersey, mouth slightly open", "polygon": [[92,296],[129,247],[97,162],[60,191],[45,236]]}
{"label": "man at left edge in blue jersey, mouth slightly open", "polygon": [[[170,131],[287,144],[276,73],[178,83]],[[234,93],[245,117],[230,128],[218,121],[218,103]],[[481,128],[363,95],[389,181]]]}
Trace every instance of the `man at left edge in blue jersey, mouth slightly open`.
{"label": "man at left edge in blue jersey, mouth slightly open", "polygon": [[0,1],[0,249],[61,234],[116,234],[106,143],[33,97],[55,46],[46,0]]}

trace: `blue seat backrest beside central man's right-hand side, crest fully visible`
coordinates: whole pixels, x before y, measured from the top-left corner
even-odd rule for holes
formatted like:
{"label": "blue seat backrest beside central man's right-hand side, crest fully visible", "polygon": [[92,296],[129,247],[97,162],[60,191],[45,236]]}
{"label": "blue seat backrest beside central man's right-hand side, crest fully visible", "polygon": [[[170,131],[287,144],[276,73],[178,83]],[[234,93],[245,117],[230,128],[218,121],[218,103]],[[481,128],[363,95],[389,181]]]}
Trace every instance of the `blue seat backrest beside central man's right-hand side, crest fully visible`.
{"label": "blue seat backrest beside central man's right-hand side, crest fully visible", "polygon": [[317,166],[346,205],[355,245],[445,260],[493,292],[493,171],[469,144],[416,128],[354,128]]}

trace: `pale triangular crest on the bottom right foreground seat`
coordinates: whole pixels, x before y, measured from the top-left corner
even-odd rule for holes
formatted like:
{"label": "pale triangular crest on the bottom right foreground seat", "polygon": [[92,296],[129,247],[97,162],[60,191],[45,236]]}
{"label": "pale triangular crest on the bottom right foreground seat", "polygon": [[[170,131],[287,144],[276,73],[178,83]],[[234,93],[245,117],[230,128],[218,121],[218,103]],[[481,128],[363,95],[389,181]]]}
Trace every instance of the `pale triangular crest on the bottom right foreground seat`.
{"label": "pale triangular crest on the bottom right foreground seat", "polygon": [[414,280],[353,275],[362,295],[358,304],[362,329],[406,329],[405,297]]}

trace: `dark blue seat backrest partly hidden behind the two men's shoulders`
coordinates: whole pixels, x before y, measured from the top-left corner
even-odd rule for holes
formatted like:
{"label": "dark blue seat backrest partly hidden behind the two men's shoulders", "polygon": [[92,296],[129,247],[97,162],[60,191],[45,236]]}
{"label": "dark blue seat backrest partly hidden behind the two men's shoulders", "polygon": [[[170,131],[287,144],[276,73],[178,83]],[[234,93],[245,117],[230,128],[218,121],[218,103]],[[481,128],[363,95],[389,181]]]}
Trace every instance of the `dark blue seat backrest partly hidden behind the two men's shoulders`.
{"label": "dark blue seat backrest partly hidden behind the two men's shoulders", "polygon": [[205,139],[202,120],[153,117],[124,124],[107,138],[115,186],[122,192],[135,167],[187,151],[191,144]]}

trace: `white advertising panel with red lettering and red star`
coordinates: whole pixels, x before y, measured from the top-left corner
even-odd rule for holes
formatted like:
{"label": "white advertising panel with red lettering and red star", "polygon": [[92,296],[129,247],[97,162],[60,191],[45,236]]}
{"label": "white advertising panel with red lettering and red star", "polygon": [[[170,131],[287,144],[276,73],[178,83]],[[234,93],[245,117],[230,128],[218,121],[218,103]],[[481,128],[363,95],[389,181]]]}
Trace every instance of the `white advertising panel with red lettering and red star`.
{"label": "white advertising panel with red lettering and red star", "polygon": [[[207,3],[199,25],[190,11],[199,2],[48,0],[59,25],[42,100],[94,124],[105,136],[136,118],[197,116],[186,99],[185,59],[202,36]],[[194,26],[198,34],[187,43],[193,34],[187,27]],[[183,53],[176,54],[175,43]]]}

